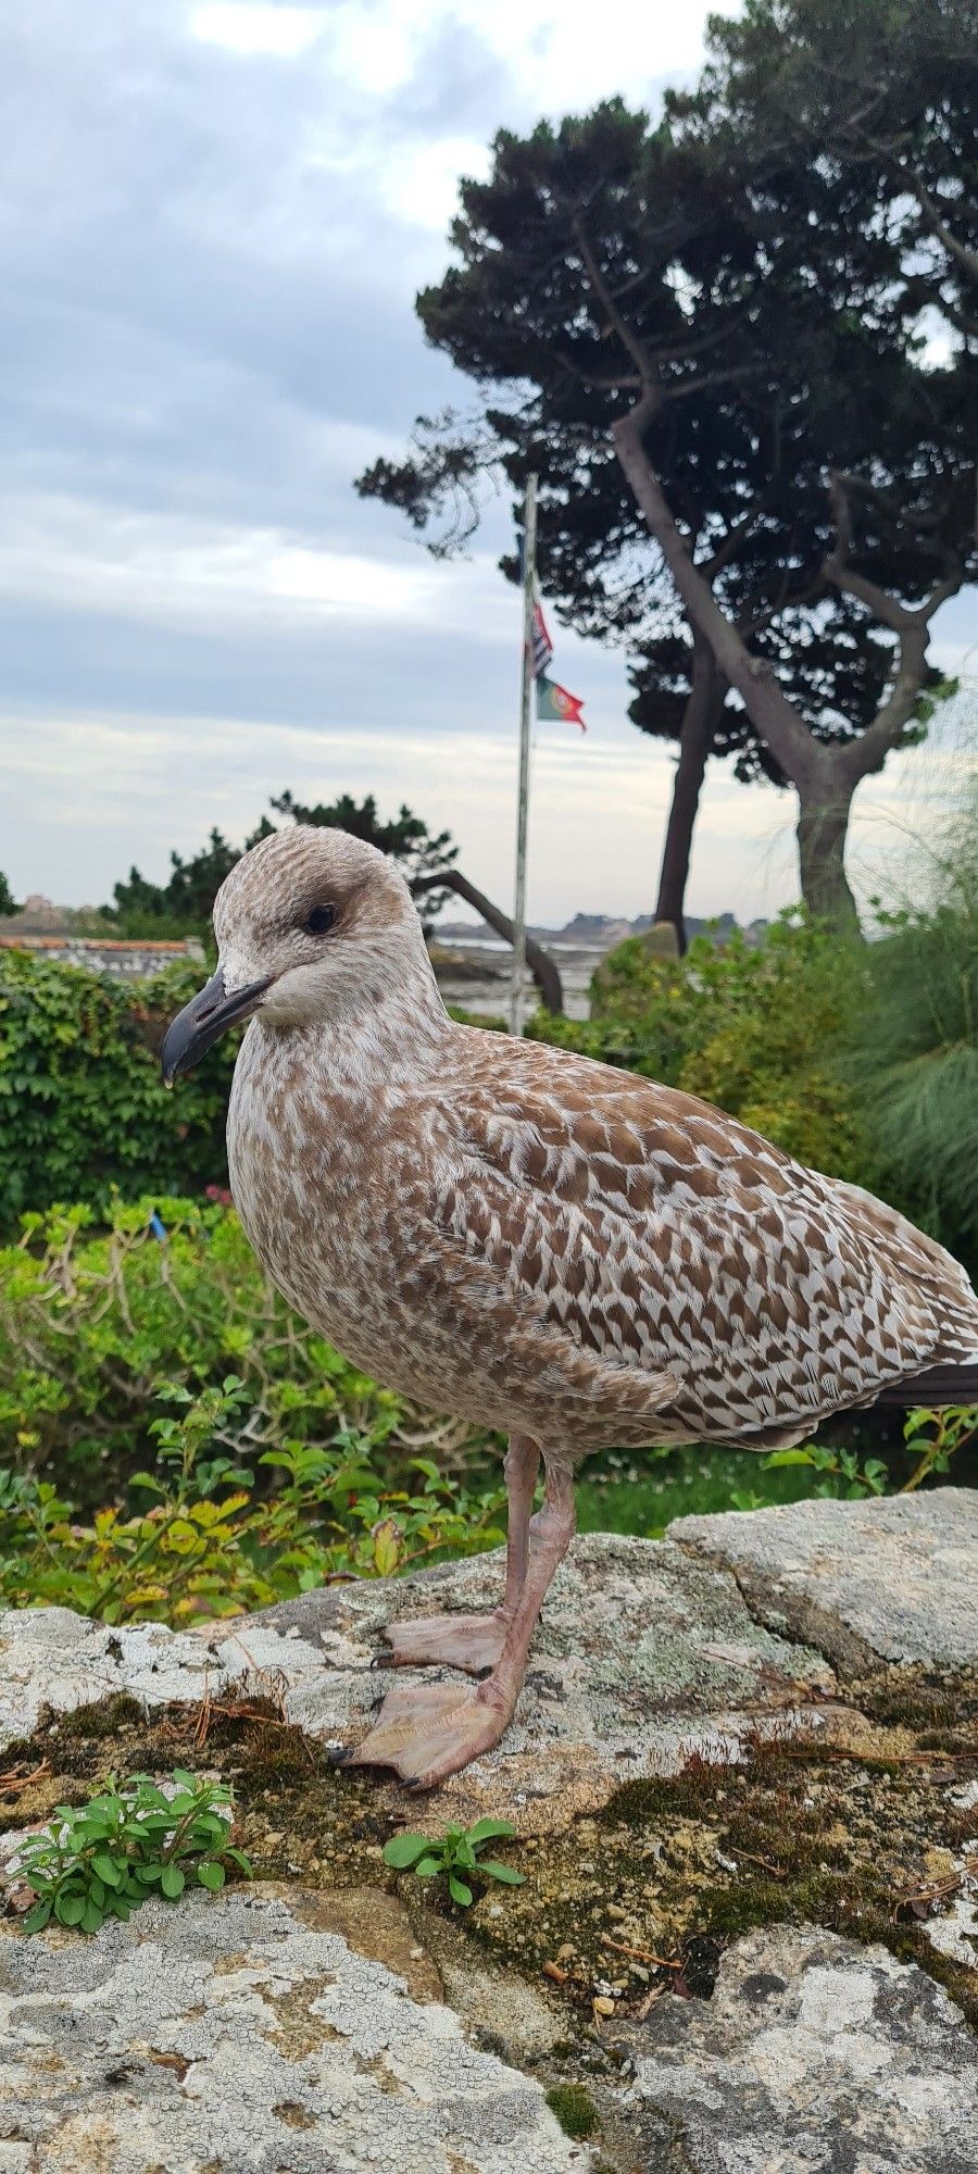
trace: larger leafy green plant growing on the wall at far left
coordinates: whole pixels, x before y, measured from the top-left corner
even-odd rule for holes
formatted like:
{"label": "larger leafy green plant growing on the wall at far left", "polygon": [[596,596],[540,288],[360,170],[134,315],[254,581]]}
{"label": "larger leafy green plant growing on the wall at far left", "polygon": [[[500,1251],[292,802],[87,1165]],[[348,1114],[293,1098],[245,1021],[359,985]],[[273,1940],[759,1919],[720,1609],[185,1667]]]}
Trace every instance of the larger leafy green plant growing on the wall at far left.
{"label": "larger leafy green plant growing on the wall at far left", "polygon": [[226,1865],[252,1876],[243,1850],[228,1841],[230,1789],[185,1767],[174,1767],[170,1783],[167,1794],[152,1774],[124,1783],[109,1776],[87,1804],[54,1809],[50,1826],[20,1850],[17,1872],[37,1896],[24,1933],[41,1933],[52,1917],[98,1933],[106,1917],[130,1917],[150,1894],[176,1902],[187,1883],[215,1894]]}

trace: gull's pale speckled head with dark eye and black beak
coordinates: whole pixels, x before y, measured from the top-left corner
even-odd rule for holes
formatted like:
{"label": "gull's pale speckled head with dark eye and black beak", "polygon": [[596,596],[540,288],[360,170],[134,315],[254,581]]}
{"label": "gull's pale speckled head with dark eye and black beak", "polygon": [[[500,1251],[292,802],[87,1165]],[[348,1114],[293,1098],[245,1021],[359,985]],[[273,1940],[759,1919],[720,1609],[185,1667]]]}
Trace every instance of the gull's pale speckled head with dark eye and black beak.
{"label": "gull's pale speckled head with dark eye and black beak", "polygon": [[228,1026],[350,1017],[404,987],[424,935],[393,861],[348,830],[293,824],[252,846],[213,907],[217,972],[170,1024],[167,1087]]}

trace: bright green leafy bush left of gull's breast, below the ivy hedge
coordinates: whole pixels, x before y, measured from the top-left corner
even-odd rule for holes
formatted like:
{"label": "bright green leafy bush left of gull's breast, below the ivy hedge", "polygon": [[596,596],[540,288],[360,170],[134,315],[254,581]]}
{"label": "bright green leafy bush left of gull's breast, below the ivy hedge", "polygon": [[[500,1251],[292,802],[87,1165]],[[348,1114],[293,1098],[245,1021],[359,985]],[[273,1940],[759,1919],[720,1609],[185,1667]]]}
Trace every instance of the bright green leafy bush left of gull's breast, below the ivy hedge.
{"label": "bright green leafy bush left of gull's breast, below the ivy hedge", "polygon": [[[167,1233],[159,1241],[150,1215]],[[265,1283],[233,1209],[156,1194],[26,1215],[0,1248],[0,1461],[78,1504],[124,1494],[154,1454],[156,1383],[243,1391],[222,1448],[254,1457],[356,1435],[391,1454],[461,1439],[348,1365]]]}

